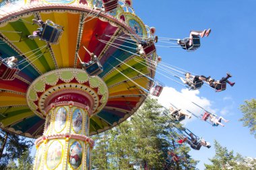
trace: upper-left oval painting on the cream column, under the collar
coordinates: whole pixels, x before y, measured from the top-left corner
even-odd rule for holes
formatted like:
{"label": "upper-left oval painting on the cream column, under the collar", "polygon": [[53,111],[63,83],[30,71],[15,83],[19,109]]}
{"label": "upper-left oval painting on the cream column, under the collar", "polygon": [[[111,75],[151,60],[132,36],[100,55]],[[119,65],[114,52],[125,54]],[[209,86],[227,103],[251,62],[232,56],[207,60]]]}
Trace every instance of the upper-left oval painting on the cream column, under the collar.
{"label": "upper-left oval painting on the cream column, under the collar", "polygon": [[59,108],[55,117],[55,130],[61,132],[65,127],[67,120],[67,110],[65,108]]}

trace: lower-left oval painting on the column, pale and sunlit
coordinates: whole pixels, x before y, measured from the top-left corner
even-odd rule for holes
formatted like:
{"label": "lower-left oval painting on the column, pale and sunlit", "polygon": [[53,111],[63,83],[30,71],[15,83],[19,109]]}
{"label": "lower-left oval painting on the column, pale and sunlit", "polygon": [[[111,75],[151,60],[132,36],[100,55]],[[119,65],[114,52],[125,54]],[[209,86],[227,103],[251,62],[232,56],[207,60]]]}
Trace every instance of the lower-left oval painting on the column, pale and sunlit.
{"label": "lower-left oval painting on the column, pale and sunlit", "polygon": [[49,169],[55,169],[62,159],[62,145],[58,140],[53,141],[46,155],[46,165]]}

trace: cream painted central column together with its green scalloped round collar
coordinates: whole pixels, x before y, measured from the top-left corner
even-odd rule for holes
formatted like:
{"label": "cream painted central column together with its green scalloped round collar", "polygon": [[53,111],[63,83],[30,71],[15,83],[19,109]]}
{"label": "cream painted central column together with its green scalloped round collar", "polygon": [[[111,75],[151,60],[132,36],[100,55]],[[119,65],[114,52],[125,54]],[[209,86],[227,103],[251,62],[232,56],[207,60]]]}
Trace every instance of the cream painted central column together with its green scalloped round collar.
{"label": "cream painted central column together with its green scalloped round collar", "polygon": [[44,132],[35,142],[34,170],[90,170],[90,118],[107,99],[104,81],[81,69],[59,69],[38,77],[27,92],[30,109],[45,119]]}

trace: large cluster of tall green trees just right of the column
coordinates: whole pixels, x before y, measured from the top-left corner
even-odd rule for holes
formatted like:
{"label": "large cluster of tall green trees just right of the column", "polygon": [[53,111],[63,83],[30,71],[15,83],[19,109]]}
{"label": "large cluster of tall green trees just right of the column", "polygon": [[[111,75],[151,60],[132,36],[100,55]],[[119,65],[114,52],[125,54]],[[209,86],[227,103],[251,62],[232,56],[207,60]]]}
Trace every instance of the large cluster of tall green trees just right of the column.
{"label": "large cluster of tall green trees just right of the column", "polygon": [[[92,151],[92,169],[195,169],[190,148],[170,135],[170,117],[156,99],[146,99],[130,120],[98,136]],[[166,164],[167,151],[184,159]]]}

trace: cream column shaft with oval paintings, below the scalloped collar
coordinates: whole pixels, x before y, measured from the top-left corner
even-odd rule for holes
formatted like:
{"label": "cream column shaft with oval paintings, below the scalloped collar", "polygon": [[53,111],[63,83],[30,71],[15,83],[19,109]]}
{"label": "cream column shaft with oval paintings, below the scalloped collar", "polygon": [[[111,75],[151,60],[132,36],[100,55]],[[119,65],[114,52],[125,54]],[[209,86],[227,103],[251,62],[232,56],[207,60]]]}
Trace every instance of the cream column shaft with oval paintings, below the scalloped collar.
{"label": "cream column shaft with oval paintings, below the scalloped collar", "polygon": [[90,169],[94,141],[88,137],[88,109],[88,105],[73,101],[51,103],[44,135],[36,140],[34,169]]}

